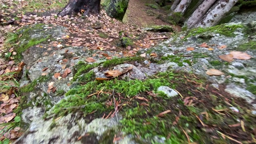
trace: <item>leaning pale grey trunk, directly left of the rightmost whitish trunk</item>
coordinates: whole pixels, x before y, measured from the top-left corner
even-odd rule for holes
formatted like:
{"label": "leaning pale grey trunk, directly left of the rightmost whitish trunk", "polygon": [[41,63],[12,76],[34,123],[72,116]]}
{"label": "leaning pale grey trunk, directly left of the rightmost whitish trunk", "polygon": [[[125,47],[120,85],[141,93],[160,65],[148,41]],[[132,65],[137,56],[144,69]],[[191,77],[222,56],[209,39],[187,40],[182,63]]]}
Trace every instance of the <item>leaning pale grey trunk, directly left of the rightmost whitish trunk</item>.
{"label": "leaning pale grey trunk, directly left of the rightmost whitish trunk", "polygon": [[216,0],[204,0],[202,4],[193,12],[193,14],[188,18],[186,26],[188,29],[192,28],[196,23],[198,23],[204,14],[211,8]]}

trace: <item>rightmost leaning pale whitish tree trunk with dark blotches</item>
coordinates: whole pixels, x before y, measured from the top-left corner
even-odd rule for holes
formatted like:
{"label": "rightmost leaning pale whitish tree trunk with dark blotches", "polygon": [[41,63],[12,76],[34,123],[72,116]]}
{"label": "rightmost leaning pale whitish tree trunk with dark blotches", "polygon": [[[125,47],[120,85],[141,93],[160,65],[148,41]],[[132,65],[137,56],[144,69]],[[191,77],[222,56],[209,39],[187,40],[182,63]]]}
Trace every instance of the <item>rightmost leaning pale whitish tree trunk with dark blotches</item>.
{"label": "rightmost leaning pale whitish tree trunk with dark blotches", "polygon": [[237,0],[218,0],[194,27],[215,26],[223,16],[236,4]]}

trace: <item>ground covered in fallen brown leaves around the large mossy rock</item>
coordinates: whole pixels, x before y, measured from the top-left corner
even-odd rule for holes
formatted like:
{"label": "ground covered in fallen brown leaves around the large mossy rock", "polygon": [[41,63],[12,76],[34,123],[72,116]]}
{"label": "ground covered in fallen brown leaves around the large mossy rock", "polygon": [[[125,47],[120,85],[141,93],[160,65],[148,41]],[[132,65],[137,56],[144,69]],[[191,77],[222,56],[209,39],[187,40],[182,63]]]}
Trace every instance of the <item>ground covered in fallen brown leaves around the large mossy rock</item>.
{"label": "ground covered in fallen brown leaves around the large mossy rock", "polygon": [[[149,0],[150,1],[150,0]],[[144,2],[130,0],[126,24],[112,20],[104,12],[101,12],[103,19],[100,21],[101,30],[95,30],[94,34],[89,34],[90,37],[98,39],[100,43],[95,41],[85,40],[84,35],[87,29],[85,27],[99,24],[95,19],[96,16],[91,16],[83,21],[80,16],[74,17],[57,17],[58,11],[64,8],[68,0],[1,0],[0,14],[0,142],[4,144],[9,140],[15,140],[22,132],[19,127],[20,116],[16,115],[15,110],[19,106],[20,94],[18,92],[19,80],[22,75],[23,62],[18,58],[19,52],[15,46],[19,42],[17,40],[22,35],[16,35],[16,31],[24,26],[31,24],[44,23],[67,27],[70,35],[65,39],[63,46],[91,46],[91,49],[111,50],[111,52],[122,52],[124,56],[134,56],[141,48],[149,48],[162,40],[148,40],[150,37],[170,36],[168,34],[148,33],[142,36],[140,40],[134,41],[133,47],[120,49],[115,47],[116,38],[127,36],[136,39],[141,33],[141,26],[153,26],[166,24],[156,16],[164,11],[156,10],[144,5]],[[147,14],[150,12],[153,15]],[[70,23],[74,22],[74,23]],[[116,28],[115,30],[111,30]],[[82,31],[82,32],[81,32]],[[107,37],[106,37],[107,36]],[[109,37],[109,38],[108,38]],[[94,43],[95,42],[95,43]],[[52,46],[57,46],[58,43],[50,43]],[[38,45],[39,46],[39,45]],[[111,59],[111,56],[108,56]]]}

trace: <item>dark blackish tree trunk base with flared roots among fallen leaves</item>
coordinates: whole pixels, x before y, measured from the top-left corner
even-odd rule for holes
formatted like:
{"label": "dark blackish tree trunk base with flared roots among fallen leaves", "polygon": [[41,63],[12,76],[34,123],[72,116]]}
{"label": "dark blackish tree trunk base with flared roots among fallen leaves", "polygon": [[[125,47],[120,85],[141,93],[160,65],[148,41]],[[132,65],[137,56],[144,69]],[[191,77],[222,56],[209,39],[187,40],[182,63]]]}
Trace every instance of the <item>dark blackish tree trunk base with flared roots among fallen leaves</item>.
{"label": "dark blackish tree trunk base with flared roots among fallen leaves", "polygon": [[100,11],[100,0],[69,0],[58,16],[71,15],[72,12],[78,13],[80,10],[84,11],[84,16],[88,16],[89,13],[98,14]]}

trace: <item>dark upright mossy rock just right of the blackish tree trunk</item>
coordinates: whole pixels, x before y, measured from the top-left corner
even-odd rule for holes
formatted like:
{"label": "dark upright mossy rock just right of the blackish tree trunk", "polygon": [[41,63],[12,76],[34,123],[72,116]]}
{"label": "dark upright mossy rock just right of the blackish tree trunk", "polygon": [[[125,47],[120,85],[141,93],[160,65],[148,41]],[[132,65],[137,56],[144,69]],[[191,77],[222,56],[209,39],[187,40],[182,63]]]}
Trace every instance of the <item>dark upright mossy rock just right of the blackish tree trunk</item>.
{"label": "dark upright mossy rock just right of the blackish tree trunk", "polygon": [[103,6],[111,18],[123,20],[129,0],[105,0]]}

